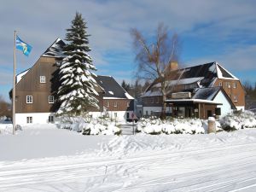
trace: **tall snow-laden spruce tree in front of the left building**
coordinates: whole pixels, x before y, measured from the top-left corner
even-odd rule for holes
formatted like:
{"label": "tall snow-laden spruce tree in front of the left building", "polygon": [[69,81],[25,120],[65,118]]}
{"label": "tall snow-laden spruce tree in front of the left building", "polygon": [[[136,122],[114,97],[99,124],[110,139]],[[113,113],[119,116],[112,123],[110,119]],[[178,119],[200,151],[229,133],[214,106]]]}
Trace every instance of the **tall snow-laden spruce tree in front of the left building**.
{"label": "tall snow-laden spruce tree in front of the left building", "polygon": [[61,61],[59,77],[61,86],[57,92],[60,108],[58,115],[76,116],[87,112],[89,108],[99,108],[96,96],[96,67],[88,52],[87,28],[82,15],[76,13],[71,28],[67,29],[67,44]]}

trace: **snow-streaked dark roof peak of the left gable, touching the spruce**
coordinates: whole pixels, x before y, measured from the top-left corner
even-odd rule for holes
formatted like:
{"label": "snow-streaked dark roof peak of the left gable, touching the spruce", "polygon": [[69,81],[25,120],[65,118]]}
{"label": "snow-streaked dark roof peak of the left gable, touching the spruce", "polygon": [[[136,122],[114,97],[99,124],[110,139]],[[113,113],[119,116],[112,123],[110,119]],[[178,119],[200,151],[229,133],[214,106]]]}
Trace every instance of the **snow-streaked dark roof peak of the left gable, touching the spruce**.
{"label": "snow-streaked dark roof peak of the left gable, touching the spruce", "polygon": [[55,42],[45,50],[42,56],[63,57],[63,48],[65,45],[66,44],[61,40],[61,38],[57,38]]}

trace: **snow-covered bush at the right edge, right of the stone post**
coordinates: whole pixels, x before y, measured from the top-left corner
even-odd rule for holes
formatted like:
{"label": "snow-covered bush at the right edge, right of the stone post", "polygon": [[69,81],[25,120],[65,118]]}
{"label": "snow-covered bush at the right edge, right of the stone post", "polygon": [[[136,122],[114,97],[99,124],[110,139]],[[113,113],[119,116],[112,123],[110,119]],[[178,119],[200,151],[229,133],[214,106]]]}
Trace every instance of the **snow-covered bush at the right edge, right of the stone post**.
{"label": "snow-covered bush at the right edge, right of the stone post", "polygon": [[244,128],[256,128],[256,117],[253,112],[244,111],[230,113],[220,119],[220,124],[225,131],[235,131]]}

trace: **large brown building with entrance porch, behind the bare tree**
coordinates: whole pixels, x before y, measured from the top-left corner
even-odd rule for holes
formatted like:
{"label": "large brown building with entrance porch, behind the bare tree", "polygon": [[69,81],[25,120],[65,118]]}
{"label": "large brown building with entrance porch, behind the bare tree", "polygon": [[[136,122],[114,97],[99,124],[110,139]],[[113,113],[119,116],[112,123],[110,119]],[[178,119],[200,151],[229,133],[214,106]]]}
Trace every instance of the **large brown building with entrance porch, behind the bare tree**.
{"label": "large brown building with entrance porch, behind the bare tree", "polygon": [[[163,102],[173,107],[166,108],[167,114],[201,119],[215,115],[216,108],[220,108],[221,116],[232,110],[245,108],[245,91],[240,80],[218,62],[172,70],[168,72],[166,81],[168,84],[166,101],[162,99],[158,79],[143,93],[144,116],[159,115]],[[205,96],[214,92],[218,95],[216,98]],[[220,107],[221,105],[223,107]],[[184,108],[186,106],[187,109]],[[190,110],[192,111],[189,112]]]}

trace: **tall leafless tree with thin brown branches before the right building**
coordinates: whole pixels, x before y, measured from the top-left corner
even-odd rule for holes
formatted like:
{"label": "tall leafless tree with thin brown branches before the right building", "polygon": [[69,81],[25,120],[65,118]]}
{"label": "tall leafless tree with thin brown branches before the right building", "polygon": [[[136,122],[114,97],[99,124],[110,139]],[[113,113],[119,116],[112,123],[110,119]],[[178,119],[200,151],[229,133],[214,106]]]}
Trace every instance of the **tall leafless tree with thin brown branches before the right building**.
{"label": "tall leafless tree with thin brown branches before the right building", "polygon": [[[131,29],[131,37],[136,51],[137,77],[139,79],[157,81],[160,83],[160,91],[163,101],[166,100],[167,77],[170,78],[170,67],[173,61],[178,61],[180,41],[176,33],[171,37],[167,27],[159,24],[153,43],[143,37],[137,29]],[[162,114],[166,113],[166,103],[163,102]]]}

